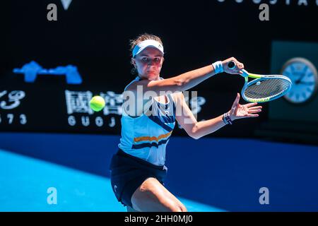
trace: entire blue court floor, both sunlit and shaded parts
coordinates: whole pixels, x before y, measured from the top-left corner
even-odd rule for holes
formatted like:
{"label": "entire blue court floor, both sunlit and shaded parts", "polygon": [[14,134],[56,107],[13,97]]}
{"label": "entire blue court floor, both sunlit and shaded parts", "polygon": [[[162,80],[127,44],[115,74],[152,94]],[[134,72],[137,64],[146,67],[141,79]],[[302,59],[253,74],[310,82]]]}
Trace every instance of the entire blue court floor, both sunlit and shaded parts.
{"label": "entire blue court floor, both sunlit and shaded parts", "polygon": [[[107,169],[118,140],[1,133],[0,210],[126,211],[112,193]],[[317,162],[317,146],[172,137],[165,184],[189,211],[317,211]],[[51,187],[57,204],[47,203]],[[261,187],[269,189],[268,205],[259,203]]]}

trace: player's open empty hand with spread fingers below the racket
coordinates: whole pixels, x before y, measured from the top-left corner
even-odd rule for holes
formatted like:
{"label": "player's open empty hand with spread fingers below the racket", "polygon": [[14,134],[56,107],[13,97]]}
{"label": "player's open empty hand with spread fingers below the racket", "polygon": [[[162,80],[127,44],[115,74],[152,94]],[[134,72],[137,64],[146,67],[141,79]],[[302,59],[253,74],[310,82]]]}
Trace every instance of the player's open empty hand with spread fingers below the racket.
{"label": "player's open empty hand with spread fingers below the racket", "polygon": [[257,106],[257,102],[249,103],[246,105],[240,105],[240,93],[237,93],[236,99],[230,109],[229,116],[233,121],[235,119],[243,119],[249,117],[259,117],[259,112],[261,112],[261,106]]}

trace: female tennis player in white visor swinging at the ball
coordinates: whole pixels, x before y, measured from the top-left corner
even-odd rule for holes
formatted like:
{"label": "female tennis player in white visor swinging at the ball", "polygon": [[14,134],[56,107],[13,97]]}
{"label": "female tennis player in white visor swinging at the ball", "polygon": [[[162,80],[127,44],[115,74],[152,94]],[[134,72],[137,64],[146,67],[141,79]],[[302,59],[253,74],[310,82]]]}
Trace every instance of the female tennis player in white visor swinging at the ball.
{"label": "female tennis player in white visor swinging at the ball", "polygon": [[[131,64],[138,76],[124,93],[122,138],[119,150],[110,164],[111,184],[117,200],[127,211],[187,211],[187,208],[164,186],[167,172],[165,148],[175,126],[175,120],[194,139],[213,133],[236,119],[258,117],[257,103],[240,105],[240,94],[232,108],[223,115],[206,121],[196,121],[184,100],[182,91],[198,85],[216,73],[241,73],[243,64],[235,58],[204,66],[172,78],[160,77],[163,66],[163,42],[155,35],[143,34],[131,41]],[[234,69],[227,64],[235,61]],[[140,92],[152,93],[145,98]],[[162,92],[167,94],[162,95]],[[124,94],[125,96],[125,94]],[[146,100],[145,100],[146,99]],[[176,114],[176,109],[182,109]]]}

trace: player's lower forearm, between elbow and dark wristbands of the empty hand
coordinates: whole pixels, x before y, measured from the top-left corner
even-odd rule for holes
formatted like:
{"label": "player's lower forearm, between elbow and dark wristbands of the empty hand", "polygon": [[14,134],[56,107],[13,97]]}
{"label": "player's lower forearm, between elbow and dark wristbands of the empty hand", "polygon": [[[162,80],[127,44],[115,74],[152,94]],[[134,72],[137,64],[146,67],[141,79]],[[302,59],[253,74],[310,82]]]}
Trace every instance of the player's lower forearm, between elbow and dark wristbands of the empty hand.
{"label": "player's lower forearm, between elbow and dark wristbands of the empty hand", "polygon": [[192,135],[194,138],[199,139],[202,136],[206,136],[209,133],[217,131],[223,126],[225,126],[225,123],[223,121],[223,115],[220,115],[219,117],[216,117],[214,119],[199,121],[194,126],[194,129],[192,130]]}

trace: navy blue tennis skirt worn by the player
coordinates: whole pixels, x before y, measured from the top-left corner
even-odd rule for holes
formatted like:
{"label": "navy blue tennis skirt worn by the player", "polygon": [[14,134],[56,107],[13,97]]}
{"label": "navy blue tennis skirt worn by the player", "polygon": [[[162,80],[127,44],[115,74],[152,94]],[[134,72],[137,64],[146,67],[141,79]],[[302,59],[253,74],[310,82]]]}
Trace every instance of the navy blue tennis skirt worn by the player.
{"label": "navy blue tennis skirt worn by the player", "polygon": [[112,191],[119,202],[132,208],[131,196],[148,178],[155,177],[164,185],[167,167],[153,165],[119,149],[110,162]]}

